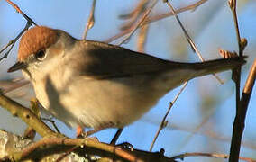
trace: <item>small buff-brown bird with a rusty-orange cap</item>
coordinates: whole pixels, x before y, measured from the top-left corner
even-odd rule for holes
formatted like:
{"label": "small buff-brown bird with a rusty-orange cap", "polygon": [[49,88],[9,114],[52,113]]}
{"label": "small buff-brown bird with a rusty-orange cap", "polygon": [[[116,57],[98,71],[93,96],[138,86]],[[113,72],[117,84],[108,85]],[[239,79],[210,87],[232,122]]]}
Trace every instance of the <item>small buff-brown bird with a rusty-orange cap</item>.
{"label": "small buff-brown bird with a rusty-orange cap", "polygon": [[123,128],[178,85],[246,62],[175,62],[46,26],[25,31],[17,59],[8,72],[21,69],[43,109],[78,130]]}

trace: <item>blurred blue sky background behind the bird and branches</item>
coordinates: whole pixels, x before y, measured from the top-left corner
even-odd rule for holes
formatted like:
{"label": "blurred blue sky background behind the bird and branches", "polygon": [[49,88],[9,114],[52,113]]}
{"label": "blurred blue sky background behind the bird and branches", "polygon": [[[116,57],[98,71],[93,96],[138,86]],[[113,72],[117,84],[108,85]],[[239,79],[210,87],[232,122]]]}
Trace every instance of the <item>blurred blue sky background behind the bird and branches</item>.
{"label": "blurred blue sky background behind the bird and branches", "polygon": [[[171,4],[178,9],[198,1],[179,0],[171,1]],[[73,37],[82,39],[93,1],[15,0],[13,2],[35,23],[68,31]],[[105,41],[122,33],[121,28],[125,29],[124,25],[128,24],[129,28],[129,23],[134,24],[133,21],[138,20],[131,13],[138,11],[136,7],[140,3],[142,4],[142,1],[138,0],[97,1],[95,25],[87,32],[87,40]],[[142,6],[141,9],[144,11],[150,6],[151,4],[148,4]],[[242,67],[243,87],[251,63],[255,58],[256,1],[241,0],[238,1],[237,7],[241,37],[248,40],[248,46],[244,50],[244,55],[249,56],[248,63]],[[149,19],[169,12],[168,5],[159,1],[152,9]],[[206,60],[221,58],[218,54],[219,48],[238,51],[233,15],[227,1],[207,0],[194,10],[183,12],[178,16]],[[2,49],[9,40],[14,39],[23,30],[26,20],[21,14],[16,13],[10,4],[0,1],[0,24],[0,49]],[[117,39],[111,43],[118,44],[122,40]],[[138,42],[143,42],[144,46],[140,46]],[[10,79],[22,76],[21,72],[6,73],[7,68],[11,67],[16,60],[17,47],[18,42],[8,58],[0,62],[0,87],[2,89],[12,87],[14,83],[10,82]],[[199,61],[173,16],[150,23],[143,30],[135,31],[132,38],[123,43],[122,47],[141,50],[164,59],[183,62]],[[153,151],[164,148],[165,155],[168,157],[185,152],[229,153],[235,116],[235,89],[230,71],[218,74],[218,76],[222,78],[224,85],[221,85],[214,76],[204,76],[189,81],[177,103],[169,112],[168,125],[161,130]],[[118,143],[127,141],[134,148],[149,150],[160,122],[169,108],[169,102],[174,99],[179,89],[180,87],[169,92],[140,121],[126,127]],[[31,85],[24,85],[7,95],[26,106],[29,106],[29,101],[34,96]],[[255,97],[254,87],[241,149],[241,156],[254,159],[256,158]],[[69,137],[75,137],[75,130],[69,129],[61,121],[56,121],[56,124],[62,133]],[[22,135],[25,128],[26,125],[23,121],[14,118],[4,109],[0,109],[0,129]],[[110,142],[115,131],[115,129],[103,130],[97,133],[96,137],[100,141]],[[224,159],[187,157],[184,161],[224,161]]]}

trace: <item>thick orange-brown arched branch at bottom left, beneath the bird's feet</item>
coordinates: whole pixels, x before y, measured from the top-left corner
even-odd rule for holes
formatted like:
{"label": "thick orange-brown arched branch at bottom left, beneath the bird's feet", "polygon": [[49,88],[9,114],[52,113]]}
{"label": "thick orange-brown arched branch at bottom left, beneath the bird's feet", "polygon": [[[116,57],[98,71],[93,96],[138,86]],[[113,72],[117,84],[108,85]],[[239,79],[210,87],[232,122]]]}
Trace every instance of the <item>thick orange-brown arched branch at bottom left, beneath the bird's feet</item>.
{"label": "thick orange-brown arched branch at bottom left, beneath the bird's feet", "polygon": [[[41,147],[48,146],[48,147]],[[62,147],[61,147],[62,146]],[[65,147],[64,147],[65,146]],[[17,160],[22,159],[40,159],[41,156],[51,155],[54,152],[63,152],[65,150],[69,150],[70,148],[80,146],[79,148],[86,148],[85,150],[88,152],[89,150],[97,150],[97,152],[102,156],[109,156],[109,153],[114,153],[118,157],[124,157],[124,159],[128,158],[131,161],[136,159],[133,155],[129,154],[126,151],[123,151],[120,148],[114,148],[114,146],[106,145],[103,143],[96,142],[92,139],[68,139],[68,138],[47,138],[41,139],[40,141],[32,144],[30,147],[24,149],[19,153],[19,156],[15,155],[14,157],[18,157]],[[37,152],[37,154],[35,154]],[[42,154],[43,153],[43,154]],[[140,160],[139,160],[140,161]]]}

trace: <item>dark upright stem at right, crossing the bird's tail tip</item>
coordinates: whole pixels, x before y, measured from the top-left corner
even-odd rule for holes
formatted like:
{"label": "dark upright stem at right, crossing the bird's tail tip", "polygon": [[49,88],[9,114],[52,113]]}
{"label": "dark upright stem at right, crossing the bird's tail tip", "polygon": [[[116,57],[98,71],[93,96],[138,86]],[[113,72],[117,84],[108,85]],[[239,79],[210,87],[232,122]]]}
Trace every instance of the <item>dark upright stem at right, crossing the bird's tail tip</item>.
{"label": "dark upright stem at right, crossing the bird's tail tip", "polygon": [[[239,31],[239,26],[238,26],[238,19],[237,19],[237,14],[236,14],[236,0],[229,0],[228,4],[230,6],[230,9],[233,14],[233,22],[234,22],[234,27],[236,31],[236,38],[237,38],[237,43],[238,43],[238,48],[239,48],[239,56],[242,57],[243,50],[245,49],[247,45],[247,40],[246,39],[241,39],[240,37],[240,31]],[[242,140],[242,132],[244,128],[244,121],[245,121],[245,114],[247,110],[246,107],[242,101],[240,100],[240,86],[241,86],[241,67],[237,67],[236,69],[233,70],[233,81],[235,83],[235,101],[236,101],[236,115],[235,119],[233,121],[233,134],[232,134],[232,141],[231,141],[231,147],[230,147],[230,162],[236,162],[238,161],[239,153],[240,153],[240,148],[241,148],[241,140]],[[250,97],[249,97],[250,98]],[[242,115],[241,113],[244,112],[245,109],[245,114]],[[242,116],[241,116],[242,115]]]}

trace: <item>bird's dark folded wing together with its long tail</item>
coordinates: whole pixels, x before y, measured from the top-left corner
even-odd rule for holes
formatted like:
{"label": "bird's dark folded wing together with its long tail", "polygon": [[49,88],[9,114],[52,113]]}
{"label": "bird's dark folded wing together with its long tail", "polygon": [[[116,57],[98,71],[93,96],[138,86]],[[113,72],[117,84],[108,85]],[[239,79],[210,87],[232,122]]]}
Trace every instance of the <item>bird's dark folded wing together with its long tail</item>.
{"label": "bird's dark folded wing together with its long tail", "polygon": [[[96,79],[111,77],[125,77],[135,75],[157,75],[163,72],[191,69],[197,71],[194,76],[204,76],[224,70],[232,69],[244,64],[246,57],[222,58],[200,63],[181,63],[150,55],[135,52],[122,47],[106,44],[98,41],[81,40],[82,48],[80,53],[84,57],[74,57],[78,62],[78,71],[81,76],[89,76]],[[81,46],[79,46],[81,47]],[[78,60],[80,59],[80,60]]]}

